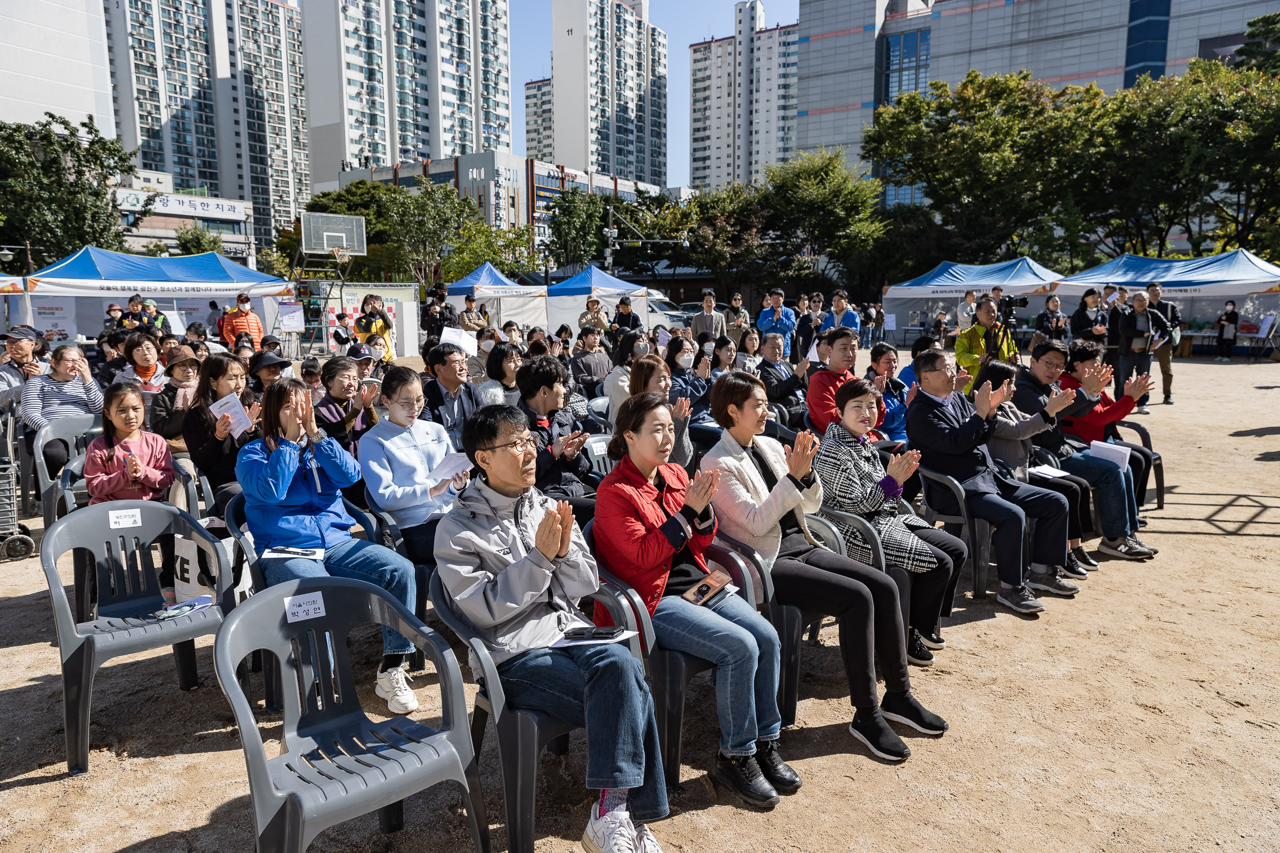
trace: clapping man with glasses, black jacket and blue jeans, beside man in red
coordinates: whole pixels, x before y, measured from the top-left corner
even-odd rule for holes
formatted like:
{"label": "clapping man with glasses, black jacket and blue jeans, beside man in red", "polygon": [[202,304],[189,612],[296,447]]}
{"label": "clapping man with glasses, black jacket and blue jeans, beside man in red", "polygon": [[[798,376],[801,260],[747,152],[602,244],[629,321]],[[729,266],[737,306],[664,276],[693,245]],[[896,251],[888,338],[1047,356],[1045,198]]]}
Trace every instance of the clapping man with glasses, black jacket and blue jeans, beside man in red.
{"label": "clapping man with glasses, black jacket and blue jeans, beside man in red", "polygon": [[[1066,370],[1068,348],[1060,340],[1042,340],[1032,350],[1029,367],[1018,372],[1014,384],[1014,405],[1027,414],[1038,414],[1048,404],[1050,396],[1059,391],[1057,380]],[[1080,382],[1075,402],[1051,418],[1052,426],[1032,436],[1032,442],[1057,459],[1055,468],[1075,474],[1097,489],[1098,518],[1102,523],[1102,542],[1098,551],[1124,560],[1142,560],[1152,556],[1152,551],[1138,535],[1138,501],[1134,492],[1133,472],[1128,466],[1123,469],[1114,462],[1100,459],[1083,441],[1062,432],[1061,419],[1073,418],[1089,412],[1098,402],[1098,394],[1111,380],[1111,368],[1102,367],[1088,373]],[[1084,546],[1071,549],[1075,559],[1088,570],[1098,568]]]}

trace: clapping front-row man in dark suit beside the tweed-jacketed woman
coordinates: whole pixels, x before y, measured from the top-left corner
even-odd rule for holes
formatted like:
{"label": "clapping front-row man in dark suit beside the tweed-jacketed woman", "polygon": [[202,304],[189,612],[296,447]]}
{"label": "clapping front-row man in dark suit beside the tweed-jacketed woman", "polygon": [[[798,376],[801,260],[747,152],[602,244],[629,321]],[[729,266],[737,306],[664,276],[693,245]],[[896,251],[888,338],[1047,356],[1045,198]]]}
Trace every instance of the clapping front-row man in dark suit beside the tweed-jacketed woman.
{"label": "clapping front-row man in dark suit beside the tweed-jacketed woman", "polygon": [[[987,439],[996,427],[996,409],[1011,389],[989,382],[970,403],[957,389],[968,376],[956,376],[941,350],[920,353],[914,362],[920,393],[906,411],[906,434],[920,451],[920,467],[954,477],[965,492],[969,513],[995,528],[996,601],[1018,613],[1044,609],[1032,590],[1074,595],[1080,587],[1062,578],[1066,563],[1066,497],[1000,474]],[[940,513],[959,514],[952,494],[925,478],[925,500]],[[1023,559],[1027,519],[1036,519],[1030,573]]]}

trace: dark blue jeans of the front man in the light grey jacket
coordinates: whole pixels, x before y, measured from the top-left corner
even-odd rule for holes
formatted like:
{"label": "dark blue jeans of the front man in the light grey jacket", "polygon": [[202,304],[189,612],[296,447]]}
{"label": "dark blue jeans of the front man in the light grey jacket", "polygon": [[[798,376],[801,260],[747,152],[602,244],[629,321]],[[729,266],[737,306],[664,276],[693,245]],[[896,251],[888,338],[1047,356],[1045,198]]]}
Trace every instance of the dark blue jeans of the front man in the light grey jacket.
{"label": "dark blue jeans of the front man in the light grey jacket", "polygon": [[628,788],[637,821],[667,816],[653,696],[620,643],[535,648],[498,666],[507,703],[586,728],[586,786]]}

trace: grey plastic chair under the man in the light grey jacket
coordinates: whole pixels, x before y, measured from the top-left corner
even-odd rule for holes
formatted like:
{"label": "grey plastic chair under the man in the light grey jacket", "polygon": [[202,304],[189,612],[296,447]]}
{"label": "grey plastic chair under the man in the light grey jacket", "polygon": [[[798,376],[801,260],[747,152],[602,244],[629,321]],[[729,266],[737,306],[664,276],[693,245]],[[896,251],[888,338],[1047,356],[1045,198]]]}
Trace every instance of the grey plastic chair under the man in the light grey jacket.
{"label": "grey plastic chair under the man in the light grey jacket", "polygon": [[[534,853],[538,756],[543,748],[557,756],[568,752],[568,735],[577,726],[534,708],[509,707],[489,650],[471,624],[449,605],[439,574],[431,574],[430,590],[436,615],[471,651],[471,671],[476,684],[480,685],[471,716],[471,744],[475,755],[479,756],[481,752],[485,724],[490,716],[493,728],[498,733],[498,765],[502,767],[508,849],[511,853]],[[602,583],[600,595],[595,596],[595,600],[608,607],[614,623],[635,630],[631,607],[625,605],[620,596],[621,592],[616,587],[609,588],[607,583]],[[639,642],[632,641],[631,653],[637,659],[641,657]]]}

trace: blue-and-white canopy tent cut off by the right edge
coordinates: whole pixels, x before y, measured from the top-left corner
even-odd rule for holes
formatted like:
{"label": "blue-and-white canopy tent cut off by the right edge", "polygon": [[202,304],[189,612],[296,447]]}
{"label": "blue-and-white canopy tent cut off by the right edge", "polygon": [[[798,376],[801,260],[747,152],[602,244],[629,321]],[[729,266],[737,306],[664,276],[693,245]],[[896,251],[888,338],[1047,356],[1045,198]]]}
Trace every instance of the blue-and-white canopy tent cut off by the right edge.
{"label": "blue-and-white canopy tent cut off by the right edge", "polygon": [[[1056,281],[1053,293],[1062,297],[1062,311],[1071,313],[1085,290],[1101,290],[1107,284],[1128,286],[1130,299],[1134,290],[1158,284],[1160,298],[1178,306],[1183,322],[1203,326],[1203,331],[1183,333],[1187,338],[1199,338],[1197,343],[1217,341],[1212,322],[1222,315],[1228,299],[1235,302],[1242,325],[1265,324],[1267,315],[1280,309],[1280,267],[1248,249],[1185,260],[1121,254],[1102,266]],[[1275,321],[1267,324],[1267,333],[1274,327]],[[1240,334],[1238,343],[1244,345],[1254,338]]]}

